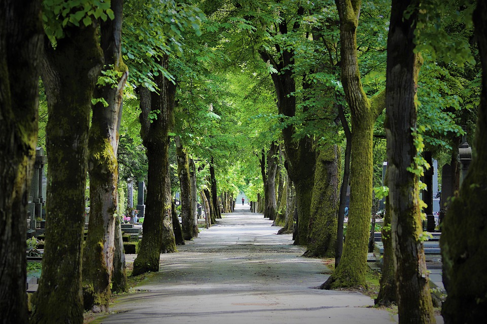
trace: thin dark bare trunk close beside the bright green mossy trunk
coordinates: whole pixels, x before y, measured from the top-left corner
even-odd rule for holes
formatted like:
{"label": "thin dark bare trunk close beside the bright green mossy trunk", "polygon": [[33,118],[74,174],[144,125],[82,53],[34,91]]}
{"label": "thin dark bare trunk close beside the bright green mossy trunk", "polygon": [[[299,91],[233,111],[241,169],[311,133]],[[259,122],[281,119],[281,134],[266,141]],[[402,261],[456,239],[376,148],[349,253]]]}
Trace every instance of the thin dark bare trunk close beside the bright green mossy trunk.
{"label": "thin dark bare trunk close beside the bright green mossy trunk", "polygon": [[346,189],[349,186],[350,180],[350,155],[352,151],[352,132],[350,132],[349,123],[346,120],[343,106],[338,105],[338,117],[345,134],[345,156],[343,166],[343,180],[340,186],[340,204],[338,206],[338,225],[336,230],[336,248],[335,248],[335,269],[340,264],[341,255],[343,252],[343,222],[345,220],[345,199]]}

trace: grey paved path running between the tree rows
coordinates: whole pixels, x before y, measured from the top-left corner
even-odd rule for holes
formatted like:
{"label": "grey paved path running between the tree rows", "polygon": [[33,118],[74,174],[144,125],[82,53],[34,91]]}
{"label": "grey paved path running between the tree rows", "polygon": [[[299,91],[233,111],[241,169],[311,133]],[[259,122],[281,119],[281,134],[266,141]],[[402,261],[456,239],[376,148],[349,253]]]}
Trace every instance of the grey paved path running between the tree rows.
{"label": "grey paved path running between the tree rows", "polygon": [[[123,294],[97,323],[395,323],[358,292],[323,291],[330,271],[291,235],[237,205],[218,225],[161,255],[160,271]],[[130,257],[130,256],[128,256]],[[128,261],[133,260],[133,257]]]}

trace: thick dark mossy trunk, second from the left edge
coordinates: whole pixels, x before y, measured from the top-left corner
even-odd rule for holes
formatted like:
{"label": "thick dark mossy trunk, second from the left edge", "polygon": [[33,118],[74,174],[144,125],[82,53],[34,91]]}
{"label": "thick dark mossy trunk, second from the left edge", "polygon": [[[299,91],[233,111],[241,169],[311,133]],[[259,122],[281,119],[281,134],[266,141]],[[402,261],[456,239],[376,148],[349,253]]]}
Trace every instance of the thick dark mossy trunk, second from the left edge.
{"label": "thick dark mossy trunk, second from the left edge", "polygon": [[98,26],[65,27],[42,64],[49,120],[46,242],[31,322],[83,322],[81,247],[91,99],[103,53]]}

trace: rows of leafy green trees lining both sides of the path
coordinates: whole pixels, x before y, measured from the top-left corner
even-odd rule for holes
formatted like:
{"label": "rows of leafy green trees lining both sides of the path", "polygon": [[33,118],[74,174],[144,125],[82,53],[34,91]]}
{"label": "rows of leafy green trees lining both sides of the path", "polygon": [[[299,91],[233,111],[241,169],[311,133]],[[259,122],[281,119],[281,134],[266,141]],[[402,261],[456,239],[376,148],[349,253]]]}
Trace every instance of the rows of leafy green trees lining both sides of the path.
{"label": "rows of leafy green trees lining both sides of the path", "polygon": [[[469,42],[475,4],[208,0],[196,7],[146,0],[123,5],[124,16],[120,0],[44,1],[42,8],[40,1],[2,4],[6,122],[0,123],[5,142],[0,167],[2,191],[11,193],[2,197],[1,208],[0,258],[6,265],[1,276],[10,279],[2,280],[0,296],[12,295],[2,298],[8,300],[1,309],[6,322],[27,321],[23,215],[38,138],[39,74],[49,116],[50,225],[32,322],[81,322],[83,304],[104,310],[110,285],[123,290],[118,173],[144,177],[144,164],[147,208],[133,274],[157,271],[160,253],[176,251],[179,222],[173,221],[170,177],[177,173],[183,205],[179,242],[197,234],[196,192],[210,226],[222,205],[229,211],[235,194],[248,186],[248,197],[258,202],[253,208],[293,231],[307,255],[336,256],[336,271],[324,288],[365,286],[373,152],[385,136],[386,223],[391,224],[385,228],[392,240],[389,250],[385,241],[384,261],[394,266],[382,273],[379,300],[397,301],[401,322],[433,321],[421,239],[418,180],[426,167],[421,152],[426,144],[436,156],[454,161],[458,125],[478,106],[476,148],[483,156],[485,104],[472,57],[483,62],[484,51],[479,46],[472,56],[476,44]],[[481,17],[485,10],[477,6],[475,17]],[[43,21],[37,19],[41,12]],[[477,19],[476,39],[482,44]],[[441,37],[432,37],[438,33]],[[471,111],[459,109],[460,102]],[[447,147],[443,152],[437,149],[441,145]],[[177,156],[177,172],[171,172],[171,155]],[[465,180],[472,192],[464,197],[461,191],[454,201],[458,206],[484,195],[479,181],[485,170],[478,163],[472,169],[477,176]],[[82,251],[87,172],[92,210]],[[481,223],[481,205],[469,206],[478,217],[470,216],[472,222]],[[462,231],[448,233],[458,228],[463,215],[458,209],[447,215],[441,242],[448,260],[445,287],[452,292],[444,314],[451,322],[466,306],[473,321],[484,303],[483,283],[465,289],[457,279],[471,269],[481,273],[474,260],[485,245],[480,234],[466,242]]]}

